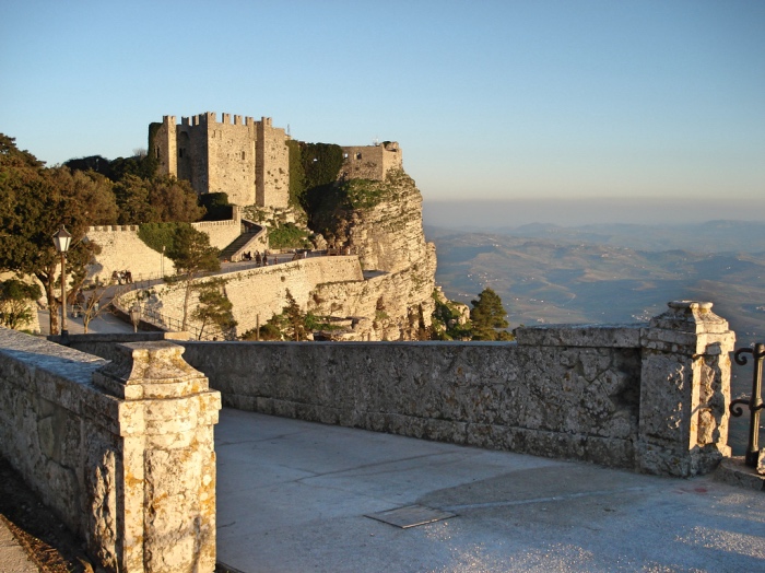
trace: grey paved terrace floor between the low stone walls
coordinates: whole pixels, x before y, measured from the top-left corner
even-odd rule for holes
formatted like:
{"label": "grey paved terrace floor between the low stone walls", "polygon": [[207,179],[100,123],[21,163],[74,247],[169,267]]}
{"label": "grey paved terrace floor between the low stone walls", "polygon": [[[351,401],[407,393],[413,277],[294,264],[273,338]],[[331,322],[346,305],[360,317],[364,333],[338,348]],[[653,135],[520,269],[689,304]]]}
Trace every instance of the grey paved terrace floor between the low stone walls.
{"label": "grey paved terrace floor between the low stone walls", "polygon": [[[234,571],[765,571],[765,494],[711,477],[231,409],[215,435],[217,559]],[[455,516],[410,528],[366,517],[411,505]]]}

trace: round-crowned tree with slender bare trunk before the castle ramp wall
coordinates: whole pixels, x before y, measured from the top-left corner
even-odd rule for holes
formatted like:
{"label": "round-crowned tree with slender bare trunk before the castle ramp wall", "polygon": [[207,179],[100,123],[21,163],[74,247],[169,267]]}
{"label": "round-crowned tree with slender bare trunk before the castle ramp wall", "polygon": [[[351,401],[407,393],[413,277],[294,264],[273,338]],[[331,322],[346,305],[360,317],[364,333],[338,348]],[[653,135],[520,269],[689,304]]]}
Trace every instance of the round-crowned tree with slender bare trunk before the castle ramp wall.
{"label": "round-crowned tree with slender bare trunk before the castle ramp wall", "polygon": [[184,296],[184,319],[181,329],[186,330],[189,316],[189,300],[193,280],[202,272],[221,269],[220,250],[210,246],[210,237],[196,229],[183,225],[175,232],[173,247],[167,257],[175,264],[175,270],[184,276],[186,294]]}

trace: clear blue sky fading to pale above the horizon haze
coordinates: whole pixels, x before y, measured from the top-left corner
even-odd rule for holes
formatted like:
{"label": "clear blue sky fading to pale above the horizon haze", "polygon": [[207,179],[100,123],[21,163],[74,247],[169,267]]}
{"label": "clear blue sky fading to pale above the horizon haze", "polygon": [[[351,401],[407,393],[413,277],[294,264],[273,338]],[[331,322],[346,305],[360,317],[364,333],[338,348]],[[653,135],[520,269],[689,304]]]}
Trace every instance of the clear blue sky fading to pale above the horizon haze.
{"label": "clear blue sky fading to pale above the horizon haze", "polygon": [[211,110],[397,140],[426,201],[765,196],[761,0],[5,0],[0,78],[48,164]]}

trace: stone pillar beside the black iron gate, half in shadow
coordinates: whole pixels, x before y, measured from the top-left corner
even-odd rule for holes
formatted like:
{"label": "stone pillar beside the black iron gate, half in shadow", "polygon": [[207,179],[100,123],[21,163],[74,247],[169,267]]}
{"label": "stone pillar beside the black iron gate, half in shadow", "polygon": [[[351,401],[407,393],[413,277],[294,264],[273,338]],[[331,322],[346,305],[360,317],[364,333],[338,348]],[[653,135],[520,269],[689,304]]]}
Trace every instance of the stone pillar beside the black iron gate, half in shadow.
{"label": "stone pillar beside the black iron gate, half in shadow", "polygon": [[735,335],[711,303],[678,301],[640,331],[637,466],[691,477],[730,456],[728,405]]}

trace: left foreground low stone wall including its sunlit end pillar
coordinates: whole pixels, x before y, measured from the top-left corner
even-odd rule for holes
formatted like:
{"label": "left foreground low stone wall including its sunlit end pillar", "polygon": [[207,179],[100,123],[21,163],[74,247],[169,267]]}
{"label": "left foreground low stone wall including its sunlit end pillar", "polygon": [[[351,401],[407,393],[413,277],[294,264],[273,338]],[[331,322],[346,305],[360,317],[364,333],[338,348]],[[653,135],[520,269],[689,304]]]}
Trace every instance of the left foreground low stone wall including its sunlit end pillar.
{"label": "left foreground low stone wall including its sunlit end pillar", "polygon": [[220,395],[181,347],[110,351],[0,329],[0,454],[99,568],[212,572]]}

